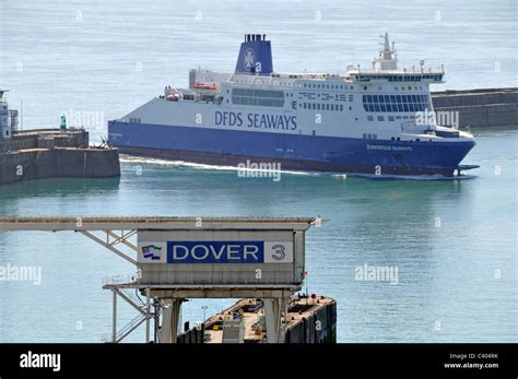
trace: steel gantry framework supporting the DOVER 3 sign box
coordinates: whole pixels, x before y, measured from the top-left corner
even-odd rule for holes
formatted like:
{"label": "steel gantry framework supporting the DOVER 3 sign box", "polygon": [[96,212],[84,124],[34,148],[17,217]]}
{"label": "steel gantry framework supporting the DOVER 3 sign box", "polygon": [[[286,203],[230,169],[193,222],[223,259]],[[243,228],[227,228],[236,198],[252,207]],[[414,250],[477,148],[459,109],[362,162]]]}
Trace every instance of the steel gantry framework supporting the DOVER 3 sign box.
{"label": "steel gantry framework supporting the DOVER 3 sign box", "polygon": [[[203,230],[217,233],[293,233],[297,235],[304,265],[304,234],[311,226],[319,226],[320,217],[0,217],[0,232],[39,230],[80,233],[136,267],[130,275],[105,277],[103,288],[113,293],[113,330],[106,342],[122,341],[145,322],[145,342],[175,343],[178,332],[179,311],[186,298],[232,298],[256,297],[264,299],[268,325],[268,342],[281,342],[282,317],[287,312],[289,298],[301,289],[302,282],[281,284],[260,283],[154,283],[153,277],[142,283],[139,262],[139,246],[134,239],[142,230],[153,233],[189,233]],[[301,268],[298,267],[297,270]],[[145,301],[132,296],[127,289],[137,289],[145,295]],[[121,298],[138,311],[138,316],[120,331],[117,331],[117,300]],[[162,325],[160,325],[162,315]],[[151,337],[151,321],[155,332]]]}

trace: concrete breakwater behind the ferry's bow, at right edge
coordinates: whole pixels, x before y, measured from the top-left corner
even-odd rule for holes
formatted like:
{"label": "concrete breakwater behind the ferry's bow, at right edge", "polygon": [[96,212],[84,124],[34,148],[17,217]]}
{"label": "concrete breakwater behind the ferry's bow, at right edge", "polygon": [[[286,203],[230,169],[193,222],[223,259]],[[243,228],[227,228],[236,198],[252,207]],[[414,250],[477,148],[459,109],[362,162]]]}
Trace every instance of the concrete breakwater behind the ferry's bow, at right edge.
{"label": "concrete breakwater behind the ferry's bow, at right edge", "polygon": [[436,111],[458,111],[460,126],[518,126],[518,88],[432,93]]}

